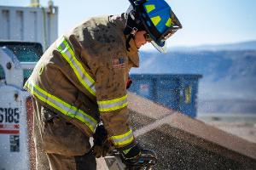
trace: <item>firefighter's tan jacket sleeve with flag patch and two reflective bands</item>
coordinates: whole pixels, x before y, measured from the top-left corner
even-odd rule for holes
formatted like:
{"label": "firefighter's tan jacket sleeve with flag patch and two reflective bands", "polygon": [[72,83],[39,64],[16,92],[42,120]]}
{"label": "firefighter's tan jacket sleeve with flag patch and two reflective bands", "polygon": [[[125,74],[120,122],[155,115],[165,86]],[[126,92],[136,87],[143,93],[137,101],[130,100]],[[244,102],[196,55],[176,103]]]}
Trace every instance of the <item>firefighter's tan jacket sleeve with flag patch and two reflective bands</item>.
{"label": "firefighter's tan jacket sleeve with flag patch and two reflective bands", "polygon": [[131,148],[136,144],[127,110],[127,59],[112,58],[96,71],[96,100],[108,139],[115,148]]}

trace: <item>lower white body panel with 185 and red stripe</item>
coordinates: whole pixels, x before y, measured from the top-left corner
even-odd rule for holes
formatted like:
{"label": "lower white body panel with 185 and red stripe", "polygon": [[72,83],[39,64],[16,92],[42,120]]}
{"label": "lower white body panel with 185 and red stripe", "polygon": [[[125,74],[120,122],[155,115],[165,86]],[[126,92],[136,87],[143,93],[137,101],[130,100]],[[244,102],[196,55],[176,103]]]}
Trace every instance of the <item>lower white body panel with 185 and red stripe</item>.
{"label": "lower white body panel with 185 and red stripe", "polygon": [[11,85],[0,85],[0,169],[30,169],[27,146],[26,97]]}

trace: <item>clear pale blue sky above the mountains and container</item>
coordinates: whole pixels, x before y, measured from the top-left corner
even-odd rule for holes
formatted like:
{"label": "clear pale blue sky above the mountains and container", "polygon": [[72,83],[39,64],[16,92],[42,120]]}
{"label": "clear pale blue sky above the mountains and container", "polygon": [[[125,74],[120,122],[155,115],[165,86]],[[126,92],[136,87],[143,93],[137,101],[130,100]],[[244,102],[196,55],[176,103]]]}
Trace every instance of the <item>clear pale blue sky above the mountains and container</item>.
{"label": "clear pale blue sky above the mountains and container", "polygon": [[[183,24],[170,46],[195,46],[256,40],[255,0],[166,0]],[[40,3],[47,5],[48,0]],[[30,0],[0,0],[0,5],[27,6]],[[94,15],[120,14],[128,0],[54,0],[59,7],[59,34]],[[145,48],[151,48],[146,46]]]}

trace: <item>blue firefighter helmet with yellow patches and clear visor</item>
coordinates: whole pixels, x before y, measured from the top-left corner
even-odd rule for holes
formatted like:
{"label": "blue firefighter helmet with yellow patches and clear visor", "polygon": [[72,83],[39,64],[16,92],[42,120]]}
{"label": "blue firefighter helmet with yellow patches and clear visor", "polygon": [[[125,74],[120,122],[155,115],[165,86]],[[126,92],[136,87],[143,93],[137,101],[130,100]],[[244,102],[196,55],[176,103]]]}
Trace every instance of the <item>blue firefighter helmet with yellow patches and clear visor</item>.
{"label": "blue firefighter helmet with yellow patches and clear visor", "polygon": [[[160,50],[178,29],[182,28],[177,16],[165,0],[129,0],[139,20],[152,38],[155,48]],[[137,21],[137,23],[139,23]]]}

